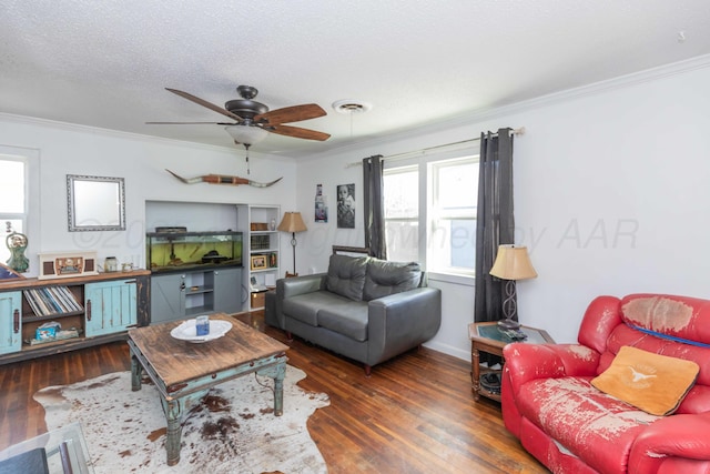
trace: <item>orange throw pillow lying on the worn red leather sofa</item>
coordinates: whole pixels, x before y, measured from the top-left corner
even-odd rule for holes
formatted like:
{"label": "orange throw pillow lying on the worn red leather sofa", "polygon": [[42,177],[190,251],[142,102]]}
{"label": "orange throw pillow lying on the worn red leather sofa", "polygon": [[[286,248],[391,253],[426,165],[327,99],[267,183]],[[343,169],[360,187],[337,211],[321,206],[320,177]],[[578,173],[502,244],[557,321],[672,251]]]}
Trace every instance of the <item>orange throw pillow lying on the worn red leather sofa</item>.
{"label": "orange throw pillow lying on the worn red leather sofa", "polygon": [[692,361],[625,345],[591,384],[651,415],[663,416],[678,409],[699,372]]}

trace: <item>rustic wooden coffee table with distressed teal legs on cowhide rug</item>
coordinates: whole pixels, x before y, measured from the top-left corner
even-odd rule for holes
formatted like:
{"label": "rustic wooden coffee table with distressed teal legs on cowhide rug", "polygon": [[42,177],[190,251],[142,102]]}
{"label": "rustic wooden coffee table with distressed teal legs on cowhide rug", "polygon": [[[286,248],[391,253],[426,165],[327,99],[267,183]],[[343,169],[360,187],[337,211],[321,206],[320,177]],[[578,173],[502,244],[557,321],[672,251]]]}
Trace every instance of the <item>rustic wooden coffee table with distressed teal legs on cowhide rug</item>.
{"label": "rustic wooden coffee table with distressed teal legs on cowhide rug", "polygon": [[226,314],[212,314],[232,329],[204,343],[181,341],[170,331],[181,322],[129,330],[131,389],[141,390],[145,371],[161,395],[168,421],[168,465],[180,462],[181,417],[215,385],[256,372],[274,379],[274,415],[283,414],[283,382],[287,345]]}

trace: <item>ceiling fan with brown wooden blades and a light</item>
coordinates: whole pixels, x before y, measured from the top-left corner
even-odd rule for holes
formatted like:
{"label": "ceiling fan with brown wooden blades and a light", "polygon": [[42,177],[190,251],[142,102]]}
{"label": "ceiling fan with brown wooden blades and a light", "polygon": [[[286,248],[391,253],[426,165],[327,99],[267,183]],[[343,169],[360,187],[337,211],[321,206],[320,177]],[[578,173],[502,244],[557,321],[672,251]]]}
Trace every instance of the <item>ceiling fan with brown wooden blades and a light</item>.
{"label": "ceiling fan with brown wooden blades and a light", "polygon": [[253,100],[258,90],[251,85],[240,85],[236,91],[242,99],[230,100],[224,108],[200,99],[189,92],[178,89],[165,88],[165,90],[178,94],[191,102],[206,107],[222,115],[232,119],[232,122],[145,122],[148,124],[201,124],[209,123],[224,125],[224,130],[234,139],[236,144],[242,144],[246,149],[246,161],[248,163],[248,148],[264,140],[268,133],[276,133],[296,139],[325,141],[331,135],[315,130],[300,127],[284,125],[284,123],[300,122],[302,120],[316,119],[326,114],[321,105],[306,103],[302,105],[284,107],[282,109],[268,110],[268,107]]}

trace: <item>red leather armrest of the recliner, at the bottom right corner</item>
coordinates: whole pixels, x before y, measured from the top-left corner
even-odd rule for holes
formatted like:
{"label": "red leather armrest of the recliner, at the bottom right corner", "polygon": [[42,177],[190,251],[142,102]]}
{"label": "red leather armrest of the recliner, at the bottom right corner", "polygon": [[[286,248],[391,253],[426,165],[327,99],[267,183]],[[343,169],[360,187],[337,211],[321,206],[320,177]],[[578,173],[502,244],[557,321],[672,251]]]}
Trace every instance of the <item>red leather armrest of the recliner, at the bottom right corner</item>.
{"label": "red leather armrest of the recliner, at the bottom right corner", "polygon": [[[670,415],[651,423],[633,442],[629,472],[707,473],[710,470],[710,412]],[[668,464],[668,465],[667,465]]]}

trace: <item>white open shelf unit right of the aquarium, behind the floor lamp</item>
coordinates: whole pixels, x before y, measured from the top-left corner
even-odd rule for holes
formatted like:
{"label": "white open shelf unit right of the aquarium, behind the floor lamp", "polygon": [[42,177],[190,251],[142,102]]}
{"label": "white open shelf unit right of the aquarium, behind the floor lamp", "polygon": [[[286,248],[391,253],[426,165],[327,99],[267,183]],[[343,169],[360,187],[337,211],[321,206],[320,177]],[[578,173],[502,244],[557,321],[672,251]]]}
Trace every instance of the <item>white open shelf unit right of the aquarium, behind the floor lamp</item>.
{"label": "white open shelf unit right of the aquarium, behind the floor lamp", "polygon": [[[263,309],[263,297],[258,293],[274,286],[280,278],[281,206],[271,204],[244,204],[239,208],[239,229],[244,230],[244,269],[250,297],[243,311]],[[254,284],[255,282],[255,284]]]}

